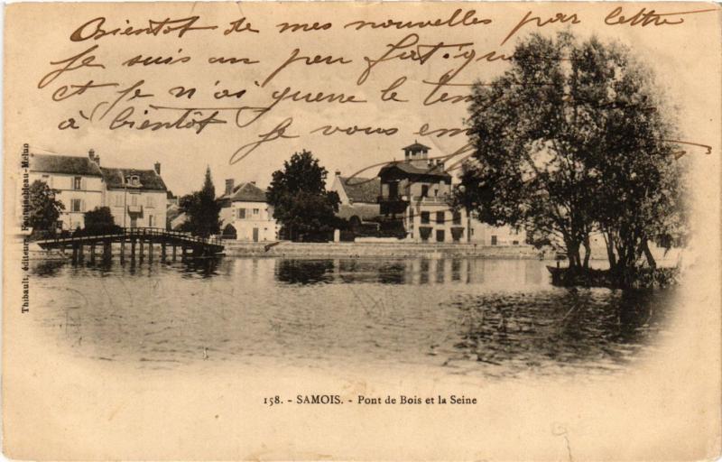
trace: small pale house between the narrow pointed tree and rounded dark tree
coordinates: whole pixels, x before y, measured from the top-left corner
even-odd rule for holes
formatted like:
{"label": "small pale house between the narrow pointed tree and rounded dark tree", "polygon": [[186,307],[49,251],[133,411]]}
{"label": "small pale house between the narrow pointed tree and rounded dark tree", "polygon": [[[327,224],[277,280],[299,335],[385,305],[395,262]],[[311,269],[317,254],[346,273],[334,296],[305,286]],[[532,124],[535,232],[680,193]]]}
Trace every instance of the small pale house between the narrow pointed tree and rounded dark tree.
{"label": "small pale house between the narrow pointed tree and rounded dark tree", "polygon": [[233,226],[237,240],[263,242],[278,238],[273,206],[266,202],[265,191],[258,188],[255,181],[236,186],[235,180],[226,180],[226,189],[218,201],[221,203],[221,229]]}

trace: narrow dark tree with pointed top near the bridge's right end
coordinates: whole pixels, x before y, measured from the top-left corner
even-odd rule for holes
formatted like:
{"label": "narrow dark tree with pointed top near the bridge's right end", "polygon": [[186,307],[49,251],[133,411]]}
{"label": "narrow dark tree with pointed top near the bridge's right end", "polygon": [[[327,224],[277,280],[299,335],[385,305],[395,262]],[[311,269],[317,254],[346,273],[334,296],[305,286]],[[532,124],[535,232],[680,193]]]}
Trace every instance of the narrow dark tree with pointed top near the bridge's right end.
{"label": "narrow dark tree with pointed top near the bridge's right end", "polygon": [[216,187],[210,176],[210,167],[206,169],[203,188],[180,198],[179,208],[188,219],[181,229],[195,236],[208,237],[220,232],[220,208],[216,200]]}

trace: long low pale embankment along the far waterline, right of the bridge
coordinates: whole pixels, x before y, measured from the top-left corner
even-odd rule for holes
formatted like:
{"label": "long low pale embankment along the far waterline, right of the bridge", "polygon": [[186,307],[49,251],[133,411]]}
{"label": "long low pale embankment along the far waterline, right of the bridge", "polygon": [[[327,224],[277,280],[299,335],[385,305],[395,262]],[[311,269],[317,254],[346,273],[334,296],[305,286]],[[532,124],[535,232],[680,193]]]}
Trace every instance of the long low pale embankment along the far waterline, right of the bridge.
{"label": "long low pale embankment along the far waterline, right of the bridge", "polygon": [[363,257],[479,257],[538,259],[540,251],[531,245],[417,244],[417,243],[301,243],[282,241],[254,243],[226,241],[227,256],[286,258],[363,258]]}

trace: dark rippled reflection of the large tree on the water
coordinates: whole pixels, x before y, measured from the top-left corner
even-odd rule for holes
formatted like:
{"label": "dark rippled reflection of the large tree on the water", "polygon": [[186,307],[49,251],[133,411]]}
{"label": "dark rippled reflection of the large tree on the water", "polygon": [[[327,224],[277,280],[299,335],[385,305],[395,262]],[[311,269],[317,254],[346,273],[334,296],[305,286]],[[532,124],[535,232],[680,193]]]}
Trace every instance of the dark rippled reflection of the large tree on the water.
{"label": "dark rippled reflection of the large tree on the water", "polygon": [[547,363],[614,367],[661,328],[664,292],[560,290],[461,297],[463,359],[504,365],[504,374]]}

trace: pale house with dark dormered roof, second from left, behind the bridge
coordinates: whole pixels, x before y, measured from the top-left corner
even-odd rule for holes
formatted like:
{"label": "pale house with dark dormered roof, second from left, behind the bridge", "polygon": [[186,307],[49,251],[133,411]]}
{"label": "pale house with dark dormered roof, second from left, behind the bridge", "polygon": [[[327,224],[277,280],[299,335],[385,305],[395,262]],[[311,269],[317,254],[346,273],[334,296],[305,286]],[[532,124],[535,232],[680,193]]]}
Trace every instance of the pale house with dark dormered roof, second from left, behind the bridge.
{"label": "pale house with dark dormered roof, second from left, behind the bridge", "polygon": [[106,184],[107,207],[124,227],[166,227],[168,189],[161,164],[153,170],[101,167]]}

